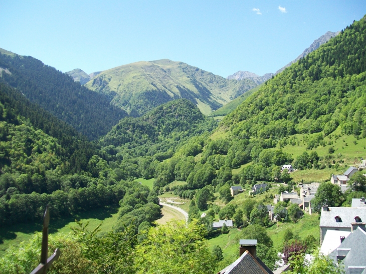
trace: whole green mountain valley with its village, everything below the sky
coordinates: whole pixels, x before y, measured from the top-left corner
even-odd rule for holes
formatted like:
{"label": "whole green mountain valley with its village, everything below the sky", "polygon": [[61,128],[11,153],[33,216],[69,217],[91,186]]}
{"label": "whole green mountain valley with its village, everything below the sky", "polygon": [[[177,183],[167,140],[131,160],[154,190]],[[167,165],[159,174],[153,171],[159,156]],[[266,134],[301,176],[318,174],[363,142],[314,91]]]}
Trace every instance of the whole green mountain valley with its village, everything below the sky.
{"label": "whole green mountain valley with its village, everything below the sky", "polygon": [[271,271],[288,245],[316,256],[325,203],[366,195],[365,37],[363,17],[264,78],[1,50],[0,272],[37,265],[46,205],[51,273],[218,272],[240,239]]}

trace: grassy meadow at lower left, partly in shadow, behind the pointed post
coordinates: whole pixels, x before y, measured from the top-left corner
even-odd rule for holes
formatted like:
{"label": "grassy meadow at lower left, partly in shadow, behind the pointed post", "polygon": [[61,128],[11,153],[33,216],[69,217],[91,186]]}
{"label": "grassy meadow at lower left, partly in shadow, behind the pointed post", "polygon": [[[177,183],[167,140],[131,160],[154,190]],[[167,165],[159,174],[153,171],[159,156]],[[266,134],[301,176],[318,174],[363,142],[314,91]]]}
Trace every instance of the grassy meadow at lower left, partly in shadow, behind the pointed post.
{"label": "grassy meadow at lower left, partly in shadow, behind the pointed post", "polygon": [[[88,229],[92,230],[103,222],[101,231],[112,229],[118,219],[118,207],[98,208],[92,212],[83,212],[76,216],[60,219],[51,219],[50,234],[67,234],[72,230],[70,227],[76,226],[75,219],[82,220],[84,223],[89,221]],[[20,223],[8,227],[0,228],[0,256],[2,256],[8,247],[28,240],[35,232],[42,231],[42,220],[34,223]]]}

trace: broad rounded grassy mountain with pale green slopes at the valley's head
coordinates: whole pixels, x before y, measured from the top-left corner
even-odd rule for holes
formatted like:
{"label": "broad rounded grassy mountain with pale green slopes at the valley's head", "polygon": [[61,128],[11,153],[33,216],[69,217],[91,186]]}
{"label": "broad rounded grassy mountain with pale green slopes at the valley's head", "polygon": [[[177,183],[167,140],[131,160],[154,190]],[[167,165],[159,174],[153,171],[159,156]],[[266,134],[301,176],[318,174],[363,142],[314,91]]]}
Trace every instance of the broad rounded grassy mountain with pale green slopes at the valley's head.
{"label": "broad rounded grassy mountain with pale green slopes at the valley's head", "polygon": [[112,104],[131,116],[179,98],[210,114],[256,86],[251,80],[225,78],[167,59],[137,62],[103,71],[85,86],[107,95]]}

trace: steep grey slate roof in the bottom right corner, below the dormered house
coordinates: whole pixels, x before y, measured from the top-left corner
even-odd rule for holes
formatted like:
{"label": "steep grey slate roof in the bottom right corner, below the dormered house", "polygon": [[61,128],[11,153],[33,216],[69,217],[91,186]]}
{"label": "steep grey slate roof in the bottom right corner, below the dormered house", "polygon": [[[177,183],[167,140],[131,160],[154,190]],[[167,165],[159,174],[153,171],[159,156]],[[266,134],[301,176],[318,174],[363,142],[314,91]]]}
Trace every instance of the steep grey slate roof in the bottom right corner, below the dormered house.
{"label": "steep grey slate roof in the bottom right corner, below the dormered house", "polygon": [[[341,255],[343,250],[349,249],[346,253],[345,258],[342,260],[344,270],[346,273],[364,273],[366,267],[366,232],[361,228],[357,227],[355,231],[350,233],[343,242],[333,250],[329,257],[336,263],[337,255]],[[354,267],[362,267],[363,269],[356,270]],[[352,271],[353,270],[353,271]],[[363,270],[363,271],[362,271]]]}

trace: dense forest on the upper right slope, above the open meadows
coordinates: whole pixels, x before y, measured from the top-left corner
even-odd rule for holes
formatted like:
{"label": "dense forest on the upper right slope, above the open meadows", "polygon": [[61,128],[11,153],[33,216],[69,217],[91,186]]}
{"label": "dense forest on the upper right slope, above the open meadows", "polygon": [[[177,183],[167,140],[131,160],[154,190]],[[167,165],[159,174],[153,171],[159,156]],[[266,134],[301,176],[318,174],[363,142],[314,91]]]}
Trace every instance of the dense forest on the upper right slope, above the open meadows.
{"label": "dense forest on the upper right slope, above the open meadows", "polygon": [[248,138],[365,131],[366,22],[361,19],[267,81],[222,125]]}

